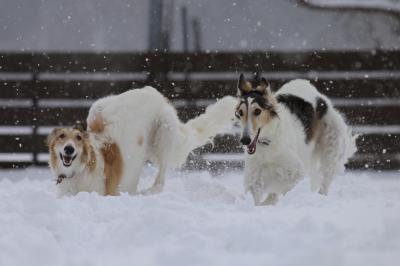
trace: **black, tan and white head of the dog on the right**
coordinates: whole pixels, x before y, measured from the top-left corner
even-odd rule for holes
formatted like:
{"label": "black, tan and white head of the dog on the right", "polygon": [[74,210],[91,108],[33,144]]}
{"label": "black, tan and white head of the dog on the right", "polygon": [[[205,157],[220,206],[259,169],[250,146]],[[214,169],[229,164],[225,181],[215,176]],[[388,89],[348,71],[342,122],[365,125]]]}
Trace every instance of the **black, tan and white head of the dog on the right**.
{"label": "black, tan and white head of the dog on the right", "polygon": [[276,100],[264,78],[252,85],[243,74],[239,77],[237,97],[235,116],[243,128],[240,142],[247,146],[248,154],[253,154],[260,131],[277,117]]}

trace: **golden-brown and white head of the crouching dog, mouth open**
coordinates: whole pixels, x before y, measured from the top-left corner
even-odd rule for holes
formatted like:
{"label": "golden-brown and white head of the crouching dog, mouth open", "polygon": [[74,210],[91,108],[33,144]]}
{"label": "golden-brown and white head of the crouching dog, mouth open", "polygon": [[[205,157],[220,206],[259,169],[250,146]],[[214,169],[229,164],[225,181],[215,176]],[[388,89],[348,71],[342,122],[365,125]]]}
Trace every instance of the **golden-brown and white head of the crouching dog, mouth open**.
{"label": "golden-brown and white head of the crouching dog, mouth open", "polygon": [[75,128],[55,128],[47,137],[50,166],[60,173],[77,172],[86,161],[88,135]]}

